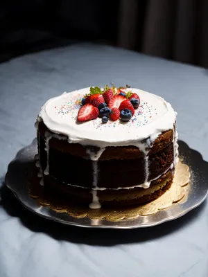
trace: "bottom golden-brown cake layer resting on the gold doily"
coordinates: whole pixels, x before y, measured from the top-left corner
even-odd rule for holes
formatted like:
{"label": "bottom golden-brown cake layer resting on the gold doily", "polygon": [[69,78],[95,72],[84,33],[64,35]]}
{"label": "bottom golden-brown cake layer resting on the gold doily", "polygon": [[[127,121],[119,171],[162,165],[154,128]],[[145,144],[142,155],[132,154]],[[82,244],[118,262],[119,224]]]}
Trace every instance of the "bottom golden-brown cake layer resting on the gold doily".
{"label": "bottom golden-brown cake layer resting on the gold doily", "polygon": [[[131,206],[135,204],[144,204],[153,201],[168,188],[170,188],[173,181],[173,171],[168,170],[166,174],[159,177],[159,179],[152,181],[150,188],[130,188],[119,190],[96,190],[99,202],[103,207],[113,206]],[[92,190],[88,188],[78,188],[69,186],[57,179],[44,175],[44,184],[49,190],[62,199],[67,199],[70,202],[80,206],[86,206],[92,203]]]}

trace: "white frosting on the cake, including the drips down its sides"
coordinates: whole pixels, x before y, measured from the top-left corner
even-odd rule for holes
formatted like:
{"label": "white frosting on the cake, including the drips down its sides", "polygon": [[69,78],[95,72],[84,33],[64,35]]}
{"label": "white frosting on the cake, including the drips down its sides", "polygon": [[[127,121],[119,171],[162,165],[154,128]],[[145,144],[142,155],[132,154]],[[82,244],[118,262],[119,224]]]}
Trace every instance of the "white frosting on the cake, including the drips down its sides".
{"label": "white frosting on the cake, including the drips down its sides", "polygon": [[[49,174],[49,140],[51,137],[57,139],[68,139],[69,143],[80,143],[82,145],[93,145],[99,148],[94,153],[87,150],[89,159],[92,160],[93,166],[93,184],[92,184],[92,203],[89,208],[101,208],[97,191],[109,188],[98,188],[98,159],[107,146],[128,146],[133,145],[144,153],[145,181],[134,187],[116,188],[149,188],[149,161],[148,152],[152,147],[157,136],[168,129],[173,129],[176,113],[171,104],[163,98],[155,96],[152,93],[141,91],[139,89],[127,89],[139,95],[141,104],[139,109],[135,110],[135,115],[128,123],[121,120],[115,122],[109,121],[107,124],[101,123],[101,118],[89,120],[84,123],[77,121],[78,110],[80,105],[76,102],[86,93],[89,88],[80,89],[71,93],[63,93],[61,96],[51,98],[42,107],[35,127],[43,120],[46,127],[51,132],[46,132],[45,143],[47,153],[47,165],[44,174]],[[64,134],[65,136],[60,136]],[[174,164],[178,160],[177,132],[174,132]],[[171,165],[173,168],[173,165]],[[169,170],[170,168],[168,168]],[[168,171],[166,170],[166,171]],[[165,173],[165,172],[164,172]],[[164,174],[163,173],[163,174]],[[40,175],[42,172],[40,172]],[[73,185],[71,185],[73,186]]]}

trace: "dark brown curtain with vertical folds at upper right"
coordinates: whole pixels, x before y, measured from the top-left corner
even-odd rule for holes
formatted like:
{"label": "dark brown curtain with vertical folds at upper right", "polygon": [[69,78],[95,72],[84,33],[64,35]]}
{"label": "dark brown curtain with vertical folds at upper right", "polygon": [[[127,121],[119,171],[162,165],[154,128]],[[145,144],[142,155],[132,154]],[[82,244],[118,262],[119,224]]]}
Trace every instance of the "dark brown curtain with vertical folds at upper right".
{"label": "dark brown curtain with vertical folds at upper right", "polygon": [[208,67],[207,0],[121,0],[118,46]]}

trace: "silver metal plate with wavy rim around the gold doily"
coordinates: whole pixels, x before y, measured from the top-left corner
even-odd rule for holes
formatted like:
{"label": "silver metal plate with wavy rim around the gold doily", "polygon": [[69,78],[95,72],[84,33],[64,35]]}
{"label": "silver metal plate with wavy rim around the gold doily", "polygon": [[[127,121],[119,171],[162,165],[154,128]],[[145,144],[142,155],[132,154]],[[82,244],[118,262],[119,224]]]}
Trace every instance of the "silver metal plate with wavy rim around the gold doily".
{"label": "silver metal plate with wavy rim around the gold doily", "polygon": [[193,210],[193,208],[202,204],[207,197],[208,163],[202,159],[199,152],[192,150],[182,141],[179,141],[179,151],[192,173],[191,190],[187,197],[187,201],[181,204],[173,204],[171,207],[158,211],[153,215],[138,216],[134,220],[110,222],[107,220],[91,220],[87,217],[78,219],[71,217],[67,213],[56,213],[49,207],[37,204],[37,201],[28,195],[28,179],[31,175],[31,170],[33,170],[35,154],[37,154],[36,139],[31,145],[19,150],[15,159],[9,164],[6,174],[6,186],[12,190],[17,199],[28,208],[28,210],[48,220],[91,228],[133,229],[155,226],[182,217],[182,215],[185,215]]}

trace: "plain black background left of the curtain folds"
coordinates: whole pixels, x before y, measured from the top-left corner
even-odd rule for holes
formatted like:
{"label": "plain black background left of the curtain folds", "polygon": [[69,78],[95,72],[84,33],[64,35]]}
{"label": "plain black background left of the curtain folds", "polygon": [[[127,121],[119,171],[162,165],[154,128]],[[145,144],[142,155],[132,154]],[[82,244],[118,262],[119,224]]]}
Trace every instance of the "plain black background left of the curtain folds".
{"label": "plain black background left of the curtain folds", "polygon": [[5,1],[1,3],[0,61],[73,40],[116,44],[119,1]]}

